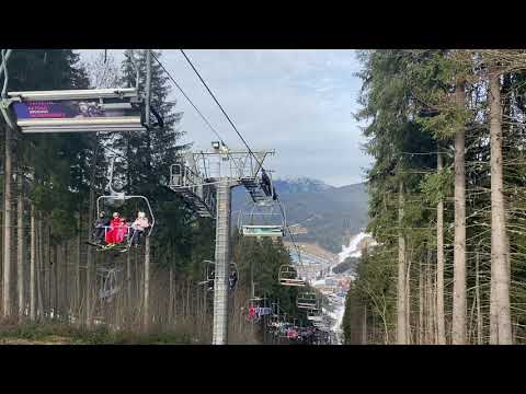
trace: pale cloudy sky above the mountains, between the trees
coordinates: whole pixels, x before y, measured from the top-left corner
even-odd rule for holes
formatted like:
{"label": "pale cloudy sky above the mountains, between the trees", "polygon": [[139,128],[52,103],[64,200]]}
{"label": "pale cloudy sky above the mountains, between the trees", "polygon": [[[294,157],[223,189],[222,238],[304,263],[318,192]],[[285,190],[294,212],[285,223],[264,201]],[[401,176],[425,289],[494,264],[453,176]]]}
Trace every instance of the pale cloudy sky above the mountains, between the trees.
{"label": "pale cloudy sky above the mountains, between the trees", "polygon": [[[83,60],[102,50],[81,50]],[[123,50],[108,50],[117,60]],[[310,177],[332,186],[364,181],[371,159],[353,114],[361,80],[354,50],[185,49],[252,150],[275,149],[265,169],[274,177]],[[160,58],[181,88],[229,148],[241,148],[236,131],[214,103],[179,49]],[[172,84],[173,85],[173,84]],[[182,142],[209,149],[217,137],[173,86],[172,100],[183,112]]]}

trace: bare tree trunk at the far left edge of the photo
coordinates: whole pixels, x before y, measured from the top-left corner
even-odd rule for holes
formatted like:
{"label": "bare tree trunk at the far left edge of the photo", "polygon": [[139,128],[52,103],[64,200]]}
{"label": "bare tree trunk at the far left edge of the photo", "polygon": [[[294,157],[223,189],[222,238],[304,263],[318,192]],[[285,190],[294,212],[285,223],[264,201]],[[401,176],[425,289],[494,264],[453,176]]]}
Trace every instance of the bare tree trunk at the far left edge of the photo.
{"label": "bare tree trunk at the far left edge of the photo", "polygon": [[11,310],[11,200],[12,200],[12,155],[11,155],[11,129],[4,125],[5,130],[5,166],[4,173],[4,194],[3,194],[3,316],[10,316]]}

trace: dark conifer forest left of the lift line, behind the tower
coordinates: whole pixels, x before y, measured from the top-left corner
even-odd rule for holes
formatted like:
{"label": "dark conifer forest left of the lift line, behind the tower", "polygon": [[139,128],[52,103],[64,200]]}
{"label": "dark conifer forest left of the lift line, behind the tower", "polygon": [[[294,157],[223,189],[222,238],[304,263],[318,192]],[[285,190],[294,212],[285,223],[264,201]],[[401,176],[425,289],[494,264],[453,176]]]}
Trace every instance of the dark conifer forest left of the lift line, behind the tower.
{"label": "dark conifer forest left of the lift line, behind the tower", "polygon": [[[155,51],[161,58],[160,51]],[[135,58],[135,60],[133,59]],[[9,91],[145,85],[146,57],[125,53],[83,63],[69,49],[13,50]],[[211,339],[213,293],[201,285],[206,259],[214,259],[215,222],[196,218],[169,190],[170,165],[190,149],[181,144],[182,113],[170,101],[169,79],[151,66],[151,106],[162,127],[147,132],[22,135],[0,120],[2,130],[2,327],[31,323],[79,327],[85,332],[172,333],[182,341]],[[188,131],[190,134],[192,130]],[[96,199],[106,193],[115,160],[118,189],[149,199],[156,225],[149,242],[151,268],[145,275],[145,242],[127,253],[99,252],[87,244],[96,218]],[[116,186],[116,187],[117,187]],[[145,210],[140,202],[107,207],[126,216]],[[150,218],[151,219],[151,218]],[[264,322],[247,322],[250,298],[279,303],[290,320],[306,324],[296,309],[297,290],[279,287],[281,264],[290,262],[284,245],[240,240],[233,231],[232,260],[239,282],[231,292],[231,343],[270,341]],[[115,269],[118,291],[100,291]]]}

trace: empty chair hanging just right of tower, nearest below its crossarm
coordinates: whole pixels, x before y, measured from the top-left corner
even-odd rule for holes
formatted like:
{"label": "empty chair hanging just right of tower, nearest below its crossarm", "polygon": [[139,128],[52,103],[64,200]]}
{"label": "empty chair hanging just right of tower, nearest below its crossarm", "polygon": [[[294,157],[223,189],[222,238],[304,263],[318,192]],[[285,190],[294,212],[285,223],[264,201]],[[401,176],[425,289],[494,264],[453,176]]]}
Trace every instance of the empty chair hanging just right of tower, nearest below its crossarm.
{"label": "empty chair hanging just right of tower, nearest below its crossarm", "polygon": [[243,236],[283,237],[286,219],[281,210],[276,211],[276,202],[263,201],[252,204],[248,213],[240,213],[238,228]]}

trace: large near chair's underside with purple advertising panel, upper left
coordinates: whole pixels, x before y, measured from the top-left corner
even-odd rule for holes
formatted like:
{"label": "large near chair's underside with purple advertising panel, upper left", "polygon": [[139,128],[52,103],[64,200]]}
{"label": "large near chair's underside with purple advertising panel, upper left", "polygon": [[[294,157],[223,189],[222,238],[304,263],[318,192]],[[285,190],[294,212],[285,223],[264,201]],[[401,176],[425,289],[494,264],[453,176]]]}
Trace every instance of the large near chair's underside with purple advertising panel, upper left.
{"label": "large near chair's underside with purple advertising panel, upper left", "polygon": [[8,92],[21,132],[146,131],[136,88]]}

